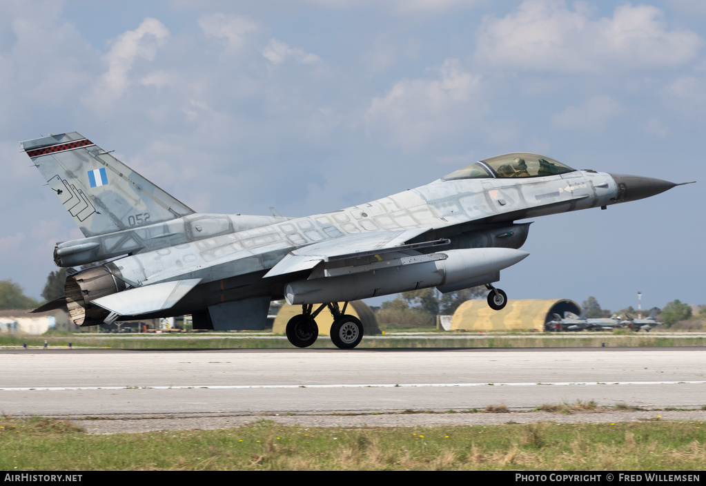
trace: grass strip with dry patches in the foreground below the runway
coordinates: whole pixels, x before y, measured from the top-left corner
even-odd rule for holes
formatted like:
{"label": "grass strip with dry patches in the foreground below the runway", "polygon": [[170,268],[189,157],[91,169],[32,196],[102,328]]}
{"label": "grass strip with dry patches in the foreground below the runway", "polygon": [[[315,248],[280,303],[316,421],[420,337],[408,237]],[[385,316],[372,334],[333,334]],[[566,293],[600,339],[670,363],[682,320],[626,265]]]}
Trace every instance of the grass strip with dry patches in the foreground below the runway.
{"label": "grass strip with dry patches in the foreground below the runway", "polygon": [[0,419],[0,470],[702,470],[706,422],[220,430],[90,435]]}

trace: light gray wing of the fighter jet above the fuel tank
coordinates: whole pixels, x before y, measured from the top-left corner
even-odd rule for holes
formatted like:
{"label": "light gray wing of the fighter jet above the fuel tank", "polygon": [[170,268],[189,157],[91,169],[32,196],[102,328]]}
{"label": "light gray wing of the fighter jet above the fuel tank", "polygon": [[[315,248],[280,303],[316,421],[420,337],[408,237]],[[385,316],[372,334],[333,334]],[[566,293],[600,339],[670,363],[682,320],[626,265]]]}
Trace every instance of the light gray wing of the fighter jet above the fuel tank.
{"label": "light gray wing of the fighter jet above the fuel tank", "polygon": [[423,247],[448,244],[448,239],[438,239],[433,242],[405,244],[428,229],[373,231],[349,235],[342,238],[327,239],[320,243],[291,251],[284,259],[265,274],[265,277],[285,275],[302,270],[311,270],[321,262],[333,262],[345,259],[373,257],[381,260],[379,255],[393,252],[410,251]]}

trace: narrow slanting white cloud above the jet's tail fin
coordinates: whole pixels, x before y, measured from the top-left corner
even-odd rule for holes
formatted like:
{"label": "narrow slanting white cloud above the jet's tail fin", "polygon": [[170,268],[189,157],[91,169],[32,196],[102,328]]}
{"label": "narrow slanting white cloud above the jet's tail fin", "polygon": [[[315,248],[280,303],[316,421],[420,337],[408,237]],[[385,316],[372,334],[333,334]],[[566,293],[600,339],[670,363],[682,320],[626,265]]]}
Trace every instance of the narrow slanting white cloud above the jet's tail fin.
{"label": "narrow slanting white cloud above the jet's tail fin", "polygon": [[93,94],[93,101],[105,104],[121,97],[131,84],[130,71],[136,59],[152,61],[157,47],[169,37],[169,30],[155,18],[145,18],[135,30],[119,35],[105,55],[108,70],[100,79]]}

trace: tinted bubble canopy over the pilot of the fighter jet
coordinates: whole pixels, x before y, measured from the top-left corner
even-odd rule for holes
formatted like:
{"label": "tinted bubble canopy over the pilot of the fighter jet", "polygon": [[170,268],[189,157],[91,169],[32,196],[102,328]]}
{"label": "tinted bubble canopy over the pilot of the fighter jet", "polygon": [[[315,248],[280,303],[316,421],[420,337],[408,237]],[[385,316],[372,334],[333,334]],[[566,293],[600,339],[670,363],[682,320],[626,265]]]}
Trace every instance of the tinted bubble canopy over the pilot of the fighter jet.
{"label": "tinted bubble canopy over the pilot of the fighter jet", "polygon": [[510,177],[544,177],[566,174],[575,169],[536,153],[515,152],[481,160],[451,172],[445,181],[455,179],[508,179]]}

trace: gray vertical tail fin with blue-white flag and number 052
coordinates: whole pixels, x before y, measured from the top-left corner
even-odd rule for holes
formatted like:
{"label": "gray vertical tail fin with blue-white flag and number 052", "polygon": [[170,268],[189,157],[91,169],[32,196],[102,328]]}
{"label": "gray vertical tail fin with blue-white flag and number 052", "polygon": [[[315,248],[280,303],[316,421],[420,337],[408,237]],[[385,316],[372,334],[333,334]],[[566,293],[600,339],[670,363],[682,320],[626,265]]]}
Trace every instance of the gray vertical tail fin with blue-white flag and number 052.
{"label": "gray vertical tail fin with blue-white flag and number 052", "polygon": [[75,131],[20,142],[85,237],[193,214]]}

